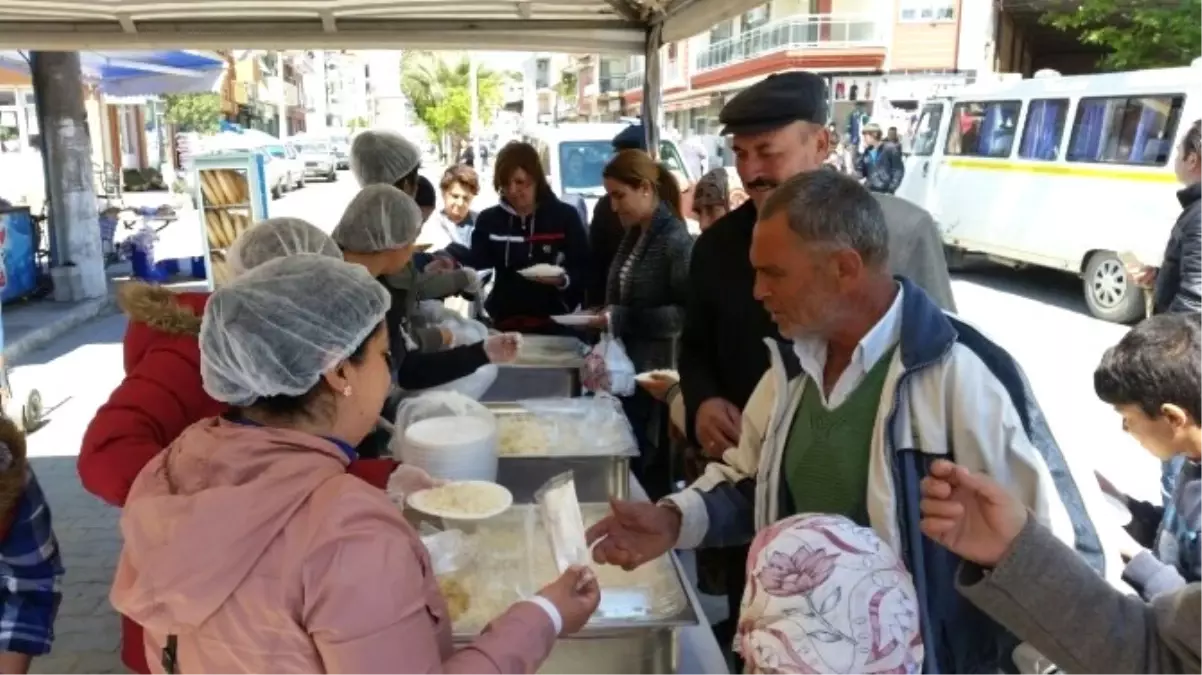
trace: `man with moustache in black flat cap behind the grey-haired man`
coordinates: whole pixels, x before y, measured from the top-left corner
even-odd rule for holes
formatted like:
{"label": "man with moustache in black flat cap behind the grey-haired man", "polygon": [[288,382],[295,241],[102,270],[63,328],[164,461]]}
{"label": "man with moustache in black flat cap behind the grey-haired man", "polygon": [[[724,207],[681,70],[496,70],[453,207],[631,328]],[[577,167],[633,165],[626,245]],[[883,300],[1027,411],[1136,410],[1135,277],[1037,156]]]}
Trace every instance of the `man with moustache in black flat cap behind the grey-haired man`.
{"label": "man with moustache in black flat cap behind the grey-haired man", "polygon": [[[680,340],[680,388],[690,440],[720,459],[738,446],[742,411],[768,371],[766,339],[781,340],[752,295],[749,261],[756,214],[785,180],[819,171],[831,150],[826,82],[809,72],[772,74],[722,108],[722,135],[733,136],[736,167],[750,199],[697,239],[690,265],[690,298]],[[889,237],[889,265],[938,305],[953,310],[939,229],[923,209],[879,195]],[[781,353],[791,359],[792,350]],[[787,363],[790,376],[798,364]],[[744,554],[745,555],[745,554]],[[727,571],[731,616],[738,616],[744,566]]]}

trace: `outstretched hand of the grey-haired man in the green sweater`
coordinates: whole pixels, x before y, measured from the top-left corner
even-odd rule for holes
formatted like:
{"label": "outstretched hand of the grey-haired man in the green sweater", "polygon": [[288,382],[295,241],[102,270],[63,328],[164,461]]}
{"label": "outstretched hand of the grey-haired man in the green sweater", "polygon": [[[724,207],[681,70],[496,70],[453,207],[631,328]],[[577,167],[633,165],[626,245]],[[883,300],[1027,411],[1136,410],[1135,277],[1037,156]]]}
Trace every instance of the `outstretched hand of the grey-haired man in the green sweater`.
{"label": "outstretched hand of the grey-haired man in the green sweater", "polygon": [[611,513],[589,527],[593,560],[631,571],[672,550],[680,538],[680,512],[649,502],[609,500]]}

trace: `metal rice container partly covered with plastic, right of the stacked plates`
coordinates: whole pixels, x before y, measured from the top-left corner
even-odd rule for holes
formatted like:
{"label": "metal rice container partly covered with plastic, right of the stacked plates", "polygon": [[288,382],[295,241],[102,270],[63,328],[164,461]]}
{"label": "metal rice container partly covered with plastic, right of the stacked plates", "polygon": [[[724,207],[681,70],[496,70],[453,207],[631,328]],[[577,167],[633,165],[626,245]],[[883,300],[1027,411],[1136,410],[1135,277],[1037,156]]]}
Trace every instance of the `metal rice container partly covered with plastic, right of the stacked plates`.
{"label": "metal rice container partly covered with plastic, right of the stacked plates", "polygon": [[582,502],[630,496],[630,460],[638,455],[638,443],[617,399],[531,399],[487,406],[496,416],[496,482],[513,492],[514,503],[532,503],[535,491],[565,471],[575,474]]}

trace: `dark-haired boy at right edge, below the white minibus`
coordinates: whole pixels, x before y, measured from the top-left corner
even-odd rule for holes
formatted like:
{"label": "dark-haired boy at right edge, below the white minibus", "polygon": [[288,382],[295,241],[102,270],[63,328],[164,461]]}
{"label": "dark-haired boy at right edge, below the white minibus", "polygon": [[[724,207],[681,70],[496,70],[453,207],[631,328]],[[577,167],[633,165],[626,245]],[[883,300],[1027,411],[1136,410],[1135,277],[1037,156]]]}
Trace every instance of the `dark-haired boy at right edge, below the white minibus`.
{"label": "dark-haired boy at right edge, below the white minibus", "polygon": [[1156,459],[1184,458],[1164,508],[1127,498],[1156,533],[1152,550],[1124,537],[1124,580],[1144,598],[1202,580],[1202,316],[1159,315],[1132,328],[1102,356],[1094,390]]}

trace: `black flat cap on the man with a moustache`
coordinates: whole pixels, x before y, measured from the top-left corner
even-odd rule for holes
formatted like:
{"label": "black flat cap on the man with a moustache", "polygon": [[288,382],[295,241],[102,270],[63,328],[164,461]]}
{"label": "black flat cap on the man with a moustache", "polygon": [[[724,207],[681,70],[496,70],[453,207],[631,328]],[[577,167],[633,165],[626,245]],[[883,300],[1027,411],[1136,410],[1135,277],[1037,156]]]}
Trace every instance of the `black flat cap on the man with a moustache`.
{"label": "black flat cap on the man with a moustache", "polygon": [[827,85],[805,71],[769,74],[739,91],[718,115],[722,135],[760,133],[795,121],[826,124],[829,117]]}

